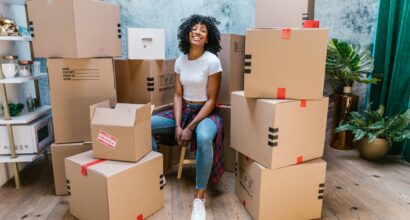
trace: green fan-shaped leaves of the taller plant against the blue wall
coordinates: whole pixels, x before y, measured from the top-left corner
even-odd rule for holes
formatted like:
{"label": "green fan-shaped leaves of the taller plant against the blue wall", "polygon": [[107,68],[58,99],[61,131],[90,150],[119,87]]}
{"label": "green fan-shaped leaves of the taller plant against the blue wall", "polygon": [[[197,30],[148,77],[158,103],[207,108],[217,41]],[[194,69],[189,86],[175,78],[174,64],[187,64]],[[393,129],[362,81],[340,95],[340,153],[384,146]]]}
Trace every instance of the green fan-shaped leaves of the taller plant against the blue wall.
{"label": "green fan-shaped leaves of the taller plant against the blue wall", "polygon": [[367,79],[373,71],[373,58],[368,49],[353,46],[345,41],[331,39],[327,45],[326,74],[344,86],[358,83],[377,83],[379,80]]}

